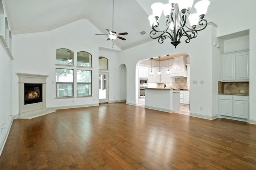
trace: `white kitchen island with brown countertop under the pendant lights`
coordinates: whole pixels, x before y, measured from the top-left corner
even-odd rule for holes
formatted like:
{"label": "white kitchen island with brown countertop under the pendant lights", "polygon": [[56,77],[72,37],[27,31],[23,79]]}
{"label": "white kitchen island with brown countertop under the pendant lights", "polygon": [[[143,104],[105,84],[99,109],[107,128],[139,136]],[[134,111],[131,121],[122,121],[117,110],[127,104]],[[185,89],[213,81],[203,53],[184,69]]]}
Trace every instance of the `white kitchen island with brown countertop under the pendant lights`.
{"label": "white kitchen island with brown countertop under the pendant lights", "polygon": [[145,108],[165,112],[180,110],[180,92],[173,88],[145,88]]}

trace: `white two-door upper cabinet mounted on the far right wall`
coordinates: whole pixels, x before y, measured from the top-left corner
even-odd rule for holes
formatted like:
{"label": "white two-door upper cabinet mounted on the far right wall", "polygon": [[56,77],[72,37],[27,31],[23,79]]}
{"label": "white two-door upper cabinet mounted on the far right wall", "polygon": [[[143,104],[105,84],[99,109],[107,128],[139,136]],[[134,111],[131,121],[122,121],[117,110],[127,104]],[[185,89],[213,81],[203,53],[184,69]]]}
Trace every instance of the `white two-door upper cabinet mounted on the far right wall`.
{"label": "white two-door upper cabinet mounted on the far right wall", "polygon": [[249,81],[249,51],[222,53],[222,82]]}

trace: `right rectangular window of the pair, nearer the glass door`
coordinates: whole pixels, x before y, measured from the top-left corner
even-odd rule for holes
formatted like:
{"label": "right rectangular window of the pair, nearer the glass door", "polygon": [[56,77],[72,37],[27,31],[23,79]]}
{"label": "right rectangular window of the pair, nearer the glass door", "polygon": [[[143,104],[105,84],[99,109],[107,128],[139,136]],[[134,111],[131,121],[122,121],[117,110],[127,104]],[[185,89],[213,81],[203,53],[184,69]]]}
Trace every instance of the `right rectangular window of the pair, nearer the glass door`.
{"label": "right rectangular window of the pair, nearer the glass door", "polygon": [[92,71],[76,70],[77,96],[92,96]]}

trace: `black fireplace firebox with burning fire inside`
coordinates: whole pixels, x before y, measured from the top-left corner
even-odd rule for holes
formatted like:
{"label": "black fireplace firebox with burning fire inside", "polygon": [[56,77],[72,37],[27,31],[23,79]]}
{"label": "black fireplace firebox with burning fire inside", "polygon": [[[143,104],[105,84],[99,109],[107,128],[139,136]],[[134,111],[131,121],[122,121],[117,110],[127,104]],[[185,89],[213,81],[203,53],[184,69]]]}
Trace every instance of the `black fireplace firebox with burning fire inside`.
{"label": "black fireplace firebox with burning fire inside", "polygon": [[24,104],[42,102],[42,84],[24,83]]}

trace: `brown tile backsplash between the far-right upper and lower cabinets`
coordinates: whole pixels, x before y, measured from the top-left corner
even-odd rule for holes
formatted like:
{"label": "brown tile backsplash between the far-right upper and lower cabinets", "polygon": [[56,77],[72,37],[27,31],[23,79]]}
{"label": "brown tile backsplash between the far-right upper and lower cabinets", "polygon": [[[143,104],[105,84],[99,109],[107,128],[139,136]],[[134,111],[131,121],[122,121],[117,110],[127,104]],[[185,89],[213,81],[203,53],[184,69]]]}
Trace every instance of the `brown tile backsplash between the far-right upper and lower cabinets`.
{"label": "brown tile backsplash between the far-right upper and lower cabinets", "polygon": [[218,81],[218,94],[249,94],[249,82]]}

